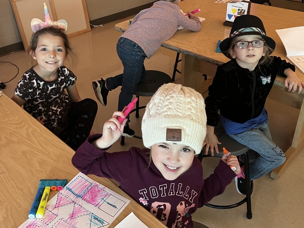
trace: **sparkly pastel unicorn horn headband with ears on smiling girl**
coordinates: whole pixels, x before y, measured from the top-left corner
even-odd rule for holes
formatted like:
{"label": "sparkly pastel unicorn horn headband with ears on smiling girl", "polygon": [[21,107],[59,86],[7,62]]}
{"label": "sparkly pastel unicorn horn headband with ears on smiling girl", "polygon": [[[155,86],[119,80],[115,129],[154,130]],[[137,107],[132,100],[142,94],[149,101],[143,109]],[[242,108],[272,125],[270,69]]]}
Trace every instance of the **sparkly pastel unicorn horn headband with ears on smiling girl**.
{"label": "sparkly pastel unicorn horn headband with ears on smiling girl", "polygon": [[51,27],[51,26],[58,26],[60,29],[64,29],[64,31],[67,31],[67,22],[65,20],[59,20],[59,21],[52,21],[50,12],[47,9],[47,5],[44,4],[44,22],[41,21],[38,18],[34,18],[31,21],[31,28],[33,32],[38,32],[41,29]]}

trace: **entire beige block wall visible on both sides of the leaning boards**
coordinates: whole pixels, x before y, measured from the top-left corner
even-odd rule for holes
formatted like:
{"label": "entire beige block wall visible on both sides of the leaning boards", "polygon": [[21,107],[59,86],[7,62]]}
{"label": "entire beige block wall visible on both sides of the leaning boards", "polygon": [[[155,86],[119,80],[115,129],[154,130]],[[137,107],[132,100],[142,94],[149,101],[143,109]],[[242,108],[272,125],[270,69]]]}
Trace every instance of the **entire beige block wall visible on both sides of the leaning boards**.
{"label": "entire beige block wall visible on both sides of the leaning boards", "polygon": [[[155,0],[86,0],[86,3],[89,20],[91,21],[154,1]],[[43,10],[43,8],[41,10]],[[21,41],[22,39],[10,0],[0,0],[0,47]]]}

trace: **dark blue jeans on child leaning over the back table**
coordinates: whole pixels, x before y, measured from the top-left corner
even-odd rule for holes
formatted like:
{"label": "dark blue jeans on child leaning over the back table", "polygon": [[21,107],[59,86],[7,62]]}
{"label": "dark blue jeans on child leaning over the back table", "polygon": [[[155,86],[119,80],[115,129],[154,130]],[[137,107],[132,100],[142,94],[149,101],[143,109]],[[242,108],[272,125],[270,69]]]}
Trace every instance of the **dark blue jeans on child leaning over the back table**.
{"label": "dark blue jeans on child leaning over the back table", "polygon": [[[118,99],[118,111],[122,111],[133,98],[137,84],[146,77],[143,61],[147,57],[143,49],[130,39],[120,37],[116,45],[117,54],[123,63],[123,73],[107,78],[106,85],[109,90],[121,86]],[[129,123],[129,115],[127,116]]]}

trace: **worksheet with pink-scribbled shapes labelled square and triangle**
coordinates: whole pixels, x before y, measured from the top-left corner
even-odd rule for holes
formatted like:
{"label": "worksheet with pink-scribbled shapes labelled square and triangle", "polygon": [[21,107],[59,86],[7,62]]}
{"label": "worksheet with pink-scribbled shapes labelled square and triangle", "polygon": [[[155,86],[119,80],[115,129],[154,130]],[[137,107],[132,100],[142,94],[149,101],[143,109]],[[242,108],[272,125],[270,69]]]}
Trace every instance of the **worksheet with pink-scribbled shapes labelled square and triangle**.
{"label": "worksheet with pink-scribbled shapes labelled square and triangle", "polygon": [[129,202],[80,172],[47,202],[41,219],[19,228],[106,228]]}

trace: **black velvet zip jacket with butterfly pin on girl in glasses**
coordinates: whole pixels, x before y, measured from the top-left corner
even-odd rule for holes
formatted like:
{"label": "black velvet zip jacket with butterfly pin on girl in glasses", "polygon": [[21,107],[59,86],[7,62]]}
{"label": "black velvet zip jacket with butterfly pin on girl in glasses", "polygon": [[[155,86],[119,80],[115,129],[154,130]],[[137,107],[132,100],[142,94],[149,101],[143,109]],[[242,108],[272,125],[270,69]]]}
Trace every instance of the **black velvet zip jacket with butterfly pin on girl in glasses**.
{"label": "black velvet zip jacket with butterfly pin on girl in glasses", "polygon": [[[287,68],[295,71],[294,65],[276,56],[269,65],[257,65],[252,72],[240,67],[234,59],[218,66],[205,99],[207,125],[217,126],[219,110],[227,119],[241,124],[258,117],[276,74],[286,77],[283,72]],[[265,78],[264,82],[271,77],[263,84],[260,76]]]}

